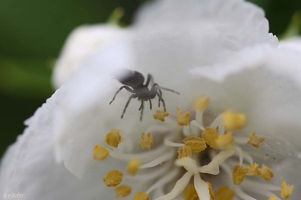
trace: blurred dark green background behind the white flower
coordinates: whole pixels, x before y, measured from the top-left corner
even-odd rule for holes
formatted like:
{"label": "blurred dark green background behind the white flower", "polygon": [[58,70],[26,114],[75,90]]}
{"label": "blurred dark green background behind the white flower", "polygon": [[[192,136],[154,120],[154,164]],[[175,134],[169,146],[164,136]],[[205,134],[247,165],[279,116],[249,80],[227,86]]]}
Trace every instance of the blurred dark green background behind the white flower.
{"label": "blurred dark green background behind the white flower", "polygon": [[[0,157],[23,121],[51,96],[51,71],[64,40],[78,25],[105,22],[116,7],[129,24],[146,0],[0,0]],[[261,6],[277,36],[299,33],[300,0],[250,0]],[[292,16],[295,17],[292,17]],[[291,20],[294,18],[294,20]]]}

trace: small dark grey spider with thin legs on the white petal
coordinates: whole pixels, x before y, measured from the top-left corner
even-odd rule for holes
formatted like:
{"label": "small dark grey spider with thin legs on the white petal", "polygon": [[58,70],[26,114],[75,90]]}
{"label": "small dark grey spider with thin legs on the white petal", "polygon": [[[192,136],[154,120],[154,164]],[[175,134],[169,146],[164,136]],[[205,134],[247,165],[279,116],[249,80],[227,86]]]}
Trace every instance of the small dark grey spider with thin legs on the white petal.
{"label": "small dark grey spider with thin legs on the white petal", "polygon": [[[124,85],[121,86],[116,91],[113,99],[111,100],[111,102],[109,104],[111,104],[115,100],[116,95],[123,88],[126,89],[127,91],[133,93],[129,96],[129,98],[124,106],[124,109],[121,114],[121,118],[123,118],[125,110],[132,98],[138,97],[138,100],[141,101],[141,105],[138,110],[140,110],[140,120],[142,120],[144,101],[149,101],[149,108],[152,109],[153,105],[152,105],[151,99],[155,98],[158,95],[158,97],[159,97],[159,105],[158,106],[160,107],[160,102],[162,101],[164,111],[166,111],[165,101],[162,97],[162,89],[180,94],[179,92],[174,91],[172,89],[162,87],[158,83],[153,83],[153,76],[150,74],[147,74],[146,82],[145,82],[145,84],[143,84],[145,78],[138,71],[124,69],[124,71],[122,71],[122,76],[116,77],[116,79]],[[152,82],[152,84],[153,84],[151,89],[148,89],[149,82]]]}

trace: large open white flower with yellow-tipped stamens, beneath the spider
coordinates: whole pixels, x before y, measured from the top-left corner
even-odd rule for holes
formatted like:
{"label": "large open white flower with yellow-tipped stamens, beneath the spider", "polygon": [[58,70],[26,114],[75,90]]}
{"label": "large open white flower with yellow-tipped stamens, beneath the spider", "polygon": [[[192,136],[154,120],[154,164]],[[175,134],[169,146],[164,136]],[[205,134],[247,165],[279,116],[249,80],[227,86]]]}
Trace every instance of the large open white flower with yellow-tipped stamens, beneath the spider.
{"label": "large open white flower with yellow-tipped stamens, beneath the spider", "polygon": [[[242,0],[148,3],[119,40],[91,51],[26,121],[3,159],[0,193],[295,199],[301,52],[277,44],[263,11]],[[179,91],[163,93],[169,115],[154,103],[140,121],[140,103],[132,100],[120,119],[129,92],[109,102],[122,85],[112,79],[121,68]]]}

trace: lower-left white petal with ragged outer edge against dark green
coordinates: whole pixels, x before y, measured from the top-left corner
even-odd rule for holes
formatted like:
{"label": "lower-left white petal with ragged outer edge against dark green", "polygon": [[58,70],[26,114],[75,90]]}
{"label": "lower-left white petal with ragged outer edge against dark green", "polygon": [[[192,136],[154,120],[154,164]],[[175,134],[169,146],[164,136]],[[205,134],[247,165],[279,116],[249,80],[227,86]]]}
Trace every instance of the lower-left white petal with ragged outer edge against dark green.
{"label": "lower-left white petal with ragged outer edge against dark green", "polygon": [[94,162],[89,173],[78,179],[63,163],[55,162],[53,117],[61,95],[57,91],[36,111],[27,121],[29,127],[8,149],[0,171],[1,195],[20,192],[27,200],[115,198],[113,189],[108,189],[101,178],[112,168],[123,168],[125,163],[110,159],[106,163]]}

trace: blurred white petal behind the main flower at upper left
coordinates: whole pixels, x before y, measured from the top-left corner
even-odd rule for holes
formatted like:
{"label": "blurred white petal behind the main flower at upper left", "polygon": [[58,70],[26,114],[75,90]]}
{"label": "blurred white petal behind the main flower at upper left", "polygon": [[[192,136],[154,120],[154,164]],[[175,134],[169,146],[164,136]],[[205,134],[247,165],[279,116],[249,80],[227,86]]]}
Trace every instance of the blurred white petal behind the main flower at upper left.
{"label": "blurred white petal behind the main flower at upper left", "polygon": [[73,30],[57,60],[53,84],[59,88],[77,72],[82,63],[96,50],[105,48],[125,34],[126,30],[107,24],[83,25]]}

